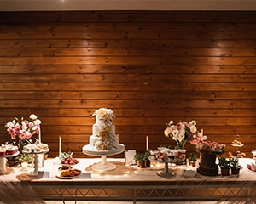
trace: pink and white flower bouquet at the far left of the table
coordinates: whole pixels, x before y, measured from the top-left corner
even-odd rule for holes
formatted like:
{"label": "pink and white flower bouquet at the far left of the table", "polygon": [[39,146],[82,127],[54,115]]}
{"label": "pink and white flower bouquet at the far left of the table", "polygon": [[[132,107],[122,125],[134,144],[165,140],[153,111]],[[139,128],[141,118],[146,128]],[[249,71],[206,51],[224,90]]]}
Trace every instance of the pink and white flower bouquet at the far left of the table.
{"label": "pink and white flower bouquet at the far left of the table", "polygon": [[34,114],[29,118],[32,119],[32,122],[28,122],[22,117],[21,121],[15,118],[15,120],[6,123],[5,127],[7,127],[11,139],[18,137],[20,140],[27,140],[31,139],[32,135],[39,133],[41,121]]}

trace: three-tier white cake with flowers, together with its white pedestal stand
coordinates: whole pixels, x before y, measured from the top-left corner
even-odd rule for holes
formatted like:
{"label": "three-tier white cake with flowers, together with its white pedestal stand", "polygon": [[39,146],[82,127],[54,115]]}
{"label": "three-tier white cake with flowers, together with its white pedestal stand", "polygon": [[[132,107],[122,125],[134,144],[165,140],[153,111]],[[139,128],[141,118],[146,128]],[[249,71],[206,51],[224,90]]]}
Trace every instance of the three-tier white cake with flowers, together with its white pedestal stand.
{"label": "three-tier white cake with flowers, together with its white pedestal stand", "polygon": [[119,144],[119,135],[115,133],[113,125],[113,111],[101,108],[95,111],[96,123],[92,126],[92,135],[89,144],[82,148],[83,153],[89,156],[101,156],[102,162],[94,164],[91,169],[96,172],[113,171],[116,166],[107,162],[107,156],[113,156],[125,151],[125,145]]}

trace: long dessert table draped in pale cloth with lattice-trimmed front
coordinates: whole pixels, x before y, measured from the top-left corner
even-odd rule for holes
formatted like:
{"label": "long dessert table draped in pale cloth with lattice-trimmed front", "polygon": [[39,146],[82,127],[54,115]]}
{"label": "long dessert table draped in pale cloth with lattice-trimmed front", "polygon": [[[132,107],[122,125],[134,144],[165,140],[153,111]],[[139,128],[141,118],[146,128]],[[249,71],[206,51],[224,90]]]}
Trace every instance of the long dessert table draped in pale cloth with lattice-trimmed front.
{"label": "long dessert table draped in pale cloth with lattice-trimmed front", "polygon": [[[1,175],[0,201],[15,199],[44,203],[46,200],[59,201],[243,201],[255,203],[256,174],[247,169],[252,159],[239,159],[239,176],[222,177],[184,175],[187,165],[172,166],[173,177],[160,177],[157,171],[164,168],[154,163],[149,168],[125,166],[124,159],[108,158],[116,169],[96,173],[91,166],[101,162],[100,158],[78,159],[73,168],[82,171],[79,178],[59,178],[60,164],[53,159],[44,161],[39,168],[38,177],[29,176],[20,167],[10,167],[9,173]],[[194,169],[195,170],[195,169]],[[11,202],[7,202],[11,203]],[[15,202],[14,202],[15,203]],[[32,202],[31,202],[32,203]]]}

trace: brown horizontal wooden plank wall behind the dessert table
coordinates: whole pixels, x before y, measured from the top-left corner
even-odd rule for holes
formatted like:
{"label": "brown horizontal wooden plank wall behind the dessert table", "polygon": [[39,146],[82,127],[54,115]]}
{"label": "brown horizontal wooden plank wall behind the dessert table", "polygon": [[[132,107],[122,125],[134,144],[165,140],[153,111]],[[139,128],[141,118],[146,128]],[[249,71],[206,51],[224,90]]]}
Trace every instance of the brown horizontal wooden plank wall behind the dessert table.
{"label": "brown horizontal wooden plank wall behind the dessert table", "polygon": [[147,135],[150,149],[173,144],[166,123],[195,120],[226,152],[239,134],[253,156],[255,12],[2,12],[0,22],[1,143],[6,122],[34,113],[50,157],[59,136],[63,151],[89,157],[91,114],[107,107],[125,149],[144,151]]}

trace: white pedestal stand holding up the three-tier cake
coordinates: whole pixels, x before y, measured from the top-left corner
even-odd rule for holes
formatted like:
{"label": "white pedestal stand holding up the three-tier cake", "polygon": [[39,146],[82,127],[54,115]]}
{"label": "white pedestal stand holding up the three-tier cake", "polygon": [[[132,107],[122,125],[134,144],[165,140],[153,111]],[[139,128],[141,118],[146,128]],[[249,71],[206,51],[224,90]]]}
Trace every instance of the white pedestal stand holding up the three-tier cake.
{"label": "white pedestal stand holding up the three-tier cake", "polygon": [[89,156],[101,156],[102,161],[91,166],[93,171],[99,173],[110,172],[116,169],[116,166],[113,163],[107,162],[107,156],[118,155],[125,150],[124,144],[119,144],[117,148],[111,150],[94,150],[89,144],[84,145],[83,153]]}

